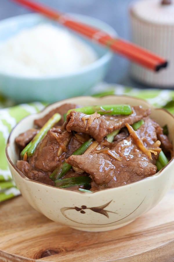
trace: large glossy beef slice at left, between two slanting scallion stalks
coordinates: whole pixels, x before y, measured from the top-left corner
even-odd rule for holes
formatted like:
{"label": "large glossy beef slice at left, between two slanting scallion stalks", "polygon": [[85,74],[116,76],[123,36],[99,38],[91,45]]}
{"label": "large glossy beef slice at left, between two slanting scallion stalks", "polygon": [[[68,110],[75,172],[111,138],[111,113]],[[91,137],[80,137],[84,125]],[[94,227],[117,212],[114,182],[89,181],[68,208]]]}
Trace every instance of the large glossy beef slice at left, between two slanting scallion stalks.
{"label": "large glossy beef slice at left, between two slanting scallion stalks", "polygon": [[35,153],[29,159],[29,164],[32,169],[52,173],[65,158],[88,139],[88,136],[83,135],[82,138],[84,140],[80,141],[66,130],[51,128],[38,144]]}

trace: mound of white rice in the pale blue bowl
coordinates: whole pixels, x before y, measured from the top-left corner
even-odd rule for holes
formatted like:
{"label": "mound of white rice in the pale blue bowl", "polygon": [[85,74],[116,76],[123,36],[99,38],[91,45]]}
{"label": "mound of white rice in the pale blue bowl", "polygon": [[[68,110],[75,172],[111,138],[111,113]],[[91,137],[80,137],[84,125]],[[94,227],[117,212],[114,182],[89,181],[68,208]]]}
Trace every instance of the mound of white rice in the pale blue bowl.
{"label": "mound of white rice in the pale blue bowl", "polygon": [[0,72],[25,76],[73,73],[97,59],[96,52],[66,29],[41,24],[1,43]]}

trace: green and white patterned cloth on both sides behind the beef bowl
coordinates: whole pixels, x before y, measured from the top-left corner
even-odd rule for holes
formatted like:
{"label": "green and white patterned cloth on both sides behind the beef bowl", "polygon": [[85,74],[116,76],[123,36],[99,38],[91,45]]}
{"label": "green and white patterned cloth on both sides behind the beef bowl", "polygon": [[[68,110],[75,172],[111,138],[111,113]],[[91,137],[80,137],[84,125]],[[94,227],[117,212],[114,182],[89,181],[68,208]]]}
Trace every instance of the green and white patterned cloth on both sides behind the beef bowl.
{"label": "green and white patterned cloth on both sides behind the beef bowl", "polygon": [[[124,94],[143,98],[152,105],[164,107],[174,114],[174,91],[172,90],[137,89],[102,83],[95,86],[90,91],[90,95],[97,97],[108,94]],[[5,156],[5,147],[9,133],[14,125],[16,125],[23,117],[32,113],[37,113],[43,109],[45,105],[46,103],[35,102],[15,106],[13,101],[5,100],[0,97],[0,202],[20,194],[12,181],[12,176],[8,169]]]}

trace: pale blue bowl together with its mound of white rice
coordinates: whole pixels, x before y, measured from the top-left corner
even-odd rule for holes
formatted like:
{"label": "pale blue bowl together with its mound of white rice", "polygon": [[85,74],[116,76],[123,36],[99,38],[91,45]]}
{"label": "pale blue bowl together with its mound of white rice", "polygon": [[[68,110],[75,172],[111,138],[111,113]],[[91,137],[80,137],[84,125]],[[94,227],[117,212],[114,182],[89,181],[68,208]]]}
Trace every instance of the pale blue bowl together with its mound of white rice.
{"label": "pale blue bowl together with its mound of white rice", "polygon": [[[116,35],[100,20],[71,14]],[[74,97],[106,76],[113,54],[39,14],[0,21],[0,92],[16,102]]]}

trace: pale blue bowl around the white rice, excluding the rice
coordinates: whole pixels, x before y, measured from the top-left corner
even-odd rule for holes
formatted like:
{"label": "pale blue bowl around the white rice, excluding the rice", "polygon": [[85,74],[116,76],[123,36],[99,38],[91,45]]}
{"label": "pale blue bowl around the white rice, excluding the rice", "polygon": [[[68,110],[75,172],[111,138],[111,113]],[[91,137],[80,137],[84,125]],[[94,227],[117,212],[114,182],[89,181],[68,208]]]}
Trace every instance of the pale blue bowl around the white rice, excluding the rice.
{"label": "pale blue bowl around the white rice, excluding the rice", "polygon": [[[81,22],[116,35],[113,28],[92,17],[71,14]],[[49,22],[39,14],[20,15],[0,21],[0,42],[10,38],[21,29],[30,28],[43,22]],[[56,23],[57,26],[60,26]],[[95,49],[98,59],[72,74],[54,77],[19,77],[0,73],[0,92],[17,102],[46,101],[55,102],[64,98],[88,93],[88,90],[100,82],[106,75],[113,54],[108,49],[91,40],[83,41]]]}

